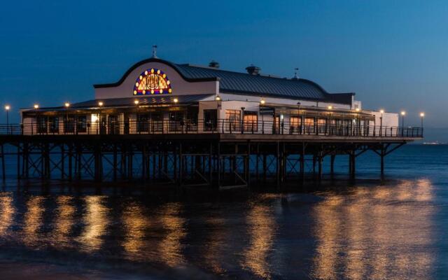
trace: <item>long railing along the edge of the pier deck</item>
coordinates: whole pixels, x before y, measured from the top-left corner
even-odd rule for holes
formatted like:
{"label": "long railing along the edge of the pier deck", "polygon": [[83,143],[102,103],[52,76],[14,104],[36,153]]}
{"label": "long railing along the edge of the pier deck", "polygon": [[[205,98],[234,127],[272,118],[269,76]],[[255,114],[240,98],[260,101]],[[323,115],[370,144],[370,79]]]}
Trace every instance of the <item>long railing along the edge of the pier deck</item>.
{"label": "long railing along the edge of the pier deck", "polygon": [[27,123],[0,125],[0,135],[66,134],[283,134],[337,137],[423,137],[422,127],[297,123],[289,121],[149,120],[106,123]]}

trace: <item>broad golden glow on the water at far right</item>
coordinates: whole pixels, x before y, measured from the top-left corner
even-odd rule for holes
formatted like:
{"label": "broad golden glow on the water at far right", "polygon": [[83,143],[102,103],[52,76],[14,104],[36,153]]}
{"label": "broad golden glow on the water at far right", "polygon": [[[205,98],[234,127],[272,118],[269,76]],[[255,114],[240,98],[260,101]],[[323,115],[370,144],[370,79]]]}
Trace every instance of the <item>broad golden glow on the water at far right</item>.
{"label": "broad golden glow on the water at far right", "polygon": [[311,277],[430,278],[434,256],[424,248],[434,238],[432,198],[424,179],[328,195],[313,209],[318,246]]}

